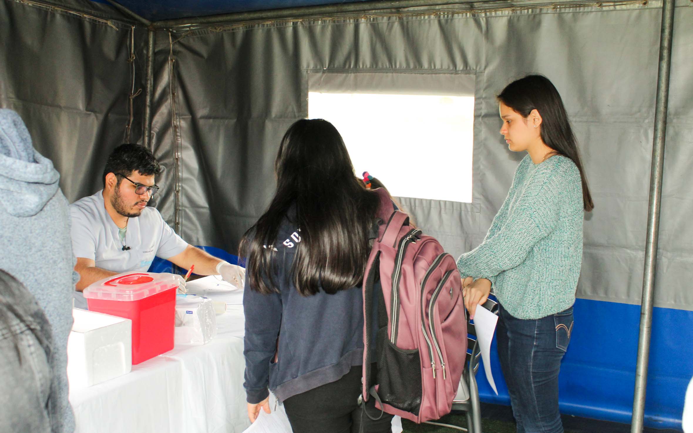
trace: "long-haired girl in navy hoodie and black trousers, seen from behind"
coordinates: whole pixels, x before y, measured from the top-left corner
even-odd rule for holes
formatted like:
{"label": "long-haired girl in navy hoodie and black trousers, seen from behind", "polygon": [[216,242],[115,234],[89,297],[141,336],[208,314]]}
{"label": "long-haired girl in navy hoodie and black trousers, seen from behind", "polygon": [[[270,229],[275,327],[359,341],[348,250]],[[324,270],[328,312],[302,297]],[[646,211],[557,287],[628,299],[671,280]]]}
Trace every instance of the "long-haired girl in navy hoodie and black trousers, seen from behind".
{"label": "long-haired girl in navy hoodie and black trousers, seen from behind", "polygon": [[358,286],[378,196],[360,185],[342,137],[321,119],[289,128],[274,170],[274,198],[240,246],[250,420],[270,412],[269,389],[294,432],[389,432],[392,416],[371,421],[357,403]]}

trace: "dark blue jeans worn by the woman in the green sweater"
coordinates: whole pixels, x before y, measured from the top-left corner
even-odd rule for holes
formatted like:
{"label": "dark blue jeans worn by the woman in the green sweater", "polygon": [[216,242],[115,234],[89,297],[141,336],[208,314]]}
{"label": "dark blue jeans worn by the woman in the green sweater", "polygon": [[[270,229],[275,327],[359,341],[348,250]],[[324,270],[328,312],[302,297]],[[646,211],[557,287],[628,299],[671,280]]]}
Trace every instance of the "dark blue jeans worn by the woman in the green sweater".
{"label": "dark blue jeans worn by the woman in the green sweater", "polygon": [[518,433],[563,433],[559,371],[572,333],[572,307],[537,320],[517,319],[500,306],[500,367]]}

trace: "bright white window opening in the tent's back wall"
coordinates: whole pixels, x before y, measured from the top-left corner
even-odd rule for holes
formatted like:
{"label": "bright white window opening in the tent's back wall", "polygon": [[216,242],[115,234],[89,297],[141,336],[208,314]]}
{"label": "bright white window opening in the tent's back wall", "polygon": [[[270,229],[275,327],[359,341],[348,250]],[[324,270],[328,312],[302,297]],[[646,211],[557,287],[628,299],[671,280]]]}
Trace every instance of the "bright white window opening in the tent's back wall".
{"label": "bright white window opening in the tent's back wall", "polygon": [[356,175],[397,197],[472,202],[473,96],[308,93],[342,134]]}

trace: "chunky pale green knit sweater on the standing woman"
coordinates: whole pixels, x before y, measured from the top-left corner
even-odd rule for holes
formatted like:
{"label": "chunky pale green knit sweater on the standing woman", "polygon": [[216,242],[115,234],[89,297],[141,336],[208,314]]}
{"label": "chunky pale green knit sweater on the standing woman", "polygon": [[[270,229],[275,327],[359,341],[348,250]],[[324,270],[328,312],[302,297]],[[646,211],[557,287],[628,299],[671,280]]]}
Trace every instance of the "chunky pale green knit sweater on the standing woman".
{"label": "chunky pale green knit sweater on the standing woman", "polygon": [[462,254],[462,278],[486,278],[503,308],[541,319],[572,306],[582,263],[580,172],[566,157],[520,162],[481,245]]}

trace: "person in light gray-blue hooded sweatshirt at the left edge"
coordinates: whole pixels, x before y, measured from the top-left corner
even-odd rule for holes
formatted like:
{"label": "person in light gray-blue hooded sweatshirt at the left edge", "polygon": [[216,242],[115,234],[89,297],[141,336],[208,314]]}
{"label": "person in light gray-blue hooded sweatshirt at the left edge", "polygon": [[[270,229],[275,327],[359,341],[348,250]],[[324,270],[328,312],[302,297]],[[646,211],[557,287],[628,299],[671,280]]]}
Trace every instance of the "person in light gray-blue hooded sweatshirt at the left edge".
{"label": "person in light gray-blue hooded sweatshirt at the left edge", "polygon": [[[33,294],[53,333],[53,380],[58,414],[52,432],[73,432],[68,401],[67,337],[72,328],[72,292],[78,274],[70,240],[70,215],[60,174],[37,152],[19,115],[0,109],[0,269]],[[12,390],[5,390],[12,395]]]}

